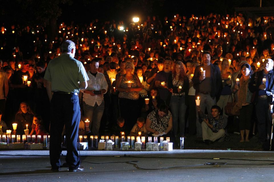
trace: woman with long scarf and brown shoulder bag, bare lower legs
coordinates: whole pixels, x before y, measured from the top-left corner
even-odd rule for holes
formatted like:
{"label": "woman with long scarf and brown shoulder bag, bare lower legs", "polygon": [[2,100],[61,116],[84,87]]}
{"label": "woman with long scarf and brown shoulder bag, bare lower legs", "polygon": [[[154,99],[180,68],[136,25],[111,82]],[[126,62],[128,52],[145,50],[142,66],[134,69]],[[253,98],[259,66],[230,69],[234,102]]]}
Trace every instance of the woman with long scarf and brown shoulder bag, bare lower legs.
{"label": "woman with long scarf and brown shoulder bag, bare lower legs", "polygon": [[[251,116],[253,104],[251,103],[252,93],[248,88],[248,84],[252,75],[249,64],[241,66],[242,76],[239,81],[239,86],[236,84],[233,92],[236,95],[237,106],[240,108],[239,129],[241,133],[240,142],[249,142],[249,131],[251,129]],[[245,135],[245,138],[244,138]]]}

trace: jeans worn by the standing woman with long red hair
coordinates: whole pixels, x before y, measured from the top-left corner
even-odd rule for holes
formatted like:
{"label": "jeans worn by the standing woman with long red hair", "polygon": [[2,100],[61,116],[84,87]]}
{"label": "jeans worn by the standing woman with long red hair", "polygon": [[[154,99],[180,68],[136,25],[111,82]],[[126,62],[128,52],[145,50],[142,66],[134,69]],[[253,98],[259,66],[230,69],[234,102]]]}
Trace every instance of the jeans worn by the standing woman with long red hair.
{"label": "jeans worn by the standing woman with long red hair", "polygon": [[186,104],[184,96],[171,96],[170,109],[172,114],[172,126],[175,136],[178,133],[178,119],[180,120],[180,136],[185,134],[185,116],[186,116]]}

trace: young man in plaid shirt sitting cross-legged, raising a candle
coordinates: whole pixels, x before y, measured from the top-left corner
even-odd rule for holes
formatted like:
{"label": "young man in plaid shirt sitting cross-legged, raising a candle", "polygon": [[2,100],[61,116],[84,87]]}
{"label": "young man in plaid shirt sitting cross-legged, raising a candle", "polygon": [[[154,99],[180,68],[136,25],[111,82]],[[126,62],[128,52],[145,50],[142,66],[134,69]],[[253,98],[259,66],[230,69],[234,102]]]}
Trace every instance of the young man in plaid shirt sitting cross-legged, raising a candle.
{"label": "young man in plaid shirt sitting cross-legged, raising a candle", "polygon": [[217,105],[211,107],[211,115],[204,114],[200,106],[197,106],[197,111],[200,117],[205,118],[202,122],[203,141],[206,144],[228,141],[229,134],[227,133],[227,117],[220,116],[221,108]]}

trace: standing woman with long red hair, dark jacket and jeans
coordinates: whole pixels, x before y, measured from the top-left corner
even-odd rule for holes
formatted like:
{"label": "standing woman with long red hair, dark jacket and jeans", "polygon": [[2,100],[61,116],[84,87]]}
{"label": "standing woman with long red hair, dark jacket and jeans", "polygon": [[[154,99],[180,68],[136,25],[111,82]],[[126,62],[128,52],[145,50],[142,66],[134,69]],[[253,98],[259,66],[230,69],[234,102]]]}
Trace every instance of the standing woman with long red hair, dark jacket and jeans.
{"label": "standing woman with long red hair, dark jacket and jeans", "polygon": [[180,120],[180,137],[185,134],[186,97],[189,90],[188,76],[184,71],[184,64],[177,61],[172,70],[172,96],[170,109],[175,136],[178,134],[178,120]]}

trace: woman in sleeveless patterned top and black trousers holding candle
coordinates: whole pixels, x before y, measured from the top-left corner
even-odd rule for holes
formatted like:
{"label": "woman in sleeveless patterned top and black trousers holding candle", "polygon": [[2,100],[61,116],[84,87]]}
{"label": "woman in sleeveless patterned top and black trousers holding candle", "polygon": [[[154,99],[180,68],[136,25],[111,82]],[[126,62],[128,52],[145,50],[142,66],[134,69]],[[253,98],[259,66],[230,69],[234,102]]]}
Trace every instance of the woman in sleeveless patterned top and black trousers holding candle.
{"label": "woman in sleeveless patterned top and black trousers holding candle", "polygon": [[120,115],[125,119],[126,126],[130,130],[140,114],[138,113],[138,92],[142,90],[142,84],[138,76],[133,74],[134,65],[127,62],[125,67],[126,74],[118,78],[116,89],[119,91]]}

